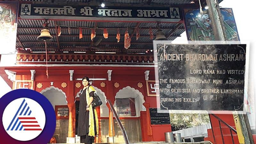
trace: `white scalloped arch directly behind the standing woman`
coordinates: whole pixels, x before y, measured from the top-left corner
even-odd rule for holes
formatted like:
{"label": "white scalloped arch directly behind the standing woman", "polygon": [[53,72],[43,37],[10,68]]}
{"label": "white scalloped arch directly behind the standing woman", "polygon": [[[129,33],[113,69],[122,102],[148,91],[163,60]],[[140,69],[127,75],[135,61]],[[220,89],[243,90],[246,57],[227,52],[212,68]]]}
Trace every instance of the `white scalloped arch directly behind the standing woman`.
{"label": "white scalloped arch directly behind the standing woman", "polygon": [[[96,90],[97,94],[100,97],[100,100],[102,101],[102,105],[100,105],[100,117],[108,117],[108,113],[109,113],[108,107],[107,107],[108,101],[105,93],[98,87],[95,87],[95,86],[92,86],[92,87]],[[80,90],[76,93],[76,97],[79,97],[79,92]]]}

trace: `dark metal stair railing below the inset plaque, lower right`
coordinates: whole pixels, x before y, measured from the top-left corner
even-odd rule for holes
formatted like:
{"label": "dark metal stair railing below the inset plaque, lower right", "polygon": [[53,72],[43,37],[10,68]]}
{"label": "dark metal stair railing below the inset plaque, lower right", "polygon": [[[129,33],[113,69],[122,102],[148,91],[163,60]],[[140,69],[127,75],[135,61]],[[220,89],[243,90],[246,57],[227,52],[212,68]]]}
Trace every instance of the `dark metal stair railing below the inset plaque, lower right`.
{"label": "dark metal stair railing below the inset plaque, lower right", "polygon": [[[220,122],[223,123],[224,125],[226,125],[226,126],[229,128],[230,134],[231,134],[231,138],[232,138],[232,143],[235,144],[232,131],[237,134],[236,130],[235,130],[233,127],[231,127],[230,125],[228,125],[226,122],[224,122],[222,119],[220,119],[220,117],[217,117],[217,116],[214,115],[214,114],[209,114],[209,117],[210,117],[210,115],[212,115],[213,117],[217,118],[218,121],[219,121],[219,127],[220,127],[220,133],[221,133],[222,143],[225,144]],[[211,123],[211,127],[212,127],[211,118],[210,118],[210,123]],[[213,135],[214,143],[216,143],[215,136],[214,136],[214,132],[213,132],[213,128],[212,128],[212,135]]]}

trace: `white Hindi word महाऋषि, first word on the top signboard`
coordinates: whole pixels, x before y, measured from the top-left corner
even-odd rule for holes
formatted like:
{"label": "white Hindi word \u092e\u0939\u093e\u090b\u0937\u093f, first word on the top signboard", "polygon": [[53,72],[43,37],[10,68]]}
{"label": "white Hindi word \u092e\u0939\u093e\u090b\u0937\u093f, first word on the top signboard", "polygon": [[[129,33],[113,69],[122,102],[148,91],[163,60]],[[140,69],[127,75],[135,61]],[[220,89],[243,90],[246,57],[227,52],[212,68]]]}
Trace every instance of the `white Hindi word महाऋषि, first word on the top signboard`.
{"label": "white Hindi word \u092e\u0939\u093e\u090b\u0937\u093f, first word on the top signboard", "polygon": [[76,8],[73,8],[71,6],[64,6],[63,8],[54,8],[54,7],[34,7],[35,13],[39,14],[45,14],[45,15],[68,15],[72,14],[75,15]]}

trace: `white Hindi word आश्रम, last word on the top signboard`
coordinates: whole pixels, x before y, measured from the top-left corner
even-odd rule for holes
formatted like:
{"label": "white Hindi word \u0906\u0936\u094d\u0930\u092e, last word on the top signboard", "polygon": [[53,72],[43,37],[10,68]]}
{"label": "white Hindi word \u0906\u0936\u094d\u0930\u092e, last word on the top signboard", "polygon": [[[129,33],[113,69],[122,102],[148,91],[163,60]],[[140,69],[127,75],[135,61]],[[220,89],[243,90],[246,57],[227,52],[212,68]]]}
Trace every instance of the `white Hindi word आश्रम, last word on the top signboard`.
{"label": "white Hindi word \u0906\u0936\u094d\u0930\u092e, last word on the top signboard", "polygon": [[137,10],[137,12],[138,17],[168,17],[168,10]]}

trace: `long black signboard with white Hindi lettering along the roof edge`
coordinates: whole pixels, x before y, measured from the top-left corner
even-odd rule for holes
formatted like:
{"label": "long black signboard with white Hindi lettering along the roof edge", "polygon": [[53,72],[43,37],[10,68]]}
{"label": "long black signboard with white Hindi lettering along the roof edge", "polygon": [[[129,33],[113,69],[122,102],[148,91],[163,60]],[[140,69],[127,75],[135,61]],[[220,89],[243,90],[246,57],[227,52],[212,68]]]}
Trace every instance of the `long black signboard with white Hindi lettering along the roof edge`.
{"label": "long black signboard with white Hindi lettering along the roof edge", "polygon": [[[182,19],[178,7],[98,7],[88,5],[21,4],[22,19],[84,19],[125,21],[170,21]],[[108,19],[104,19],[108,18]]]}

